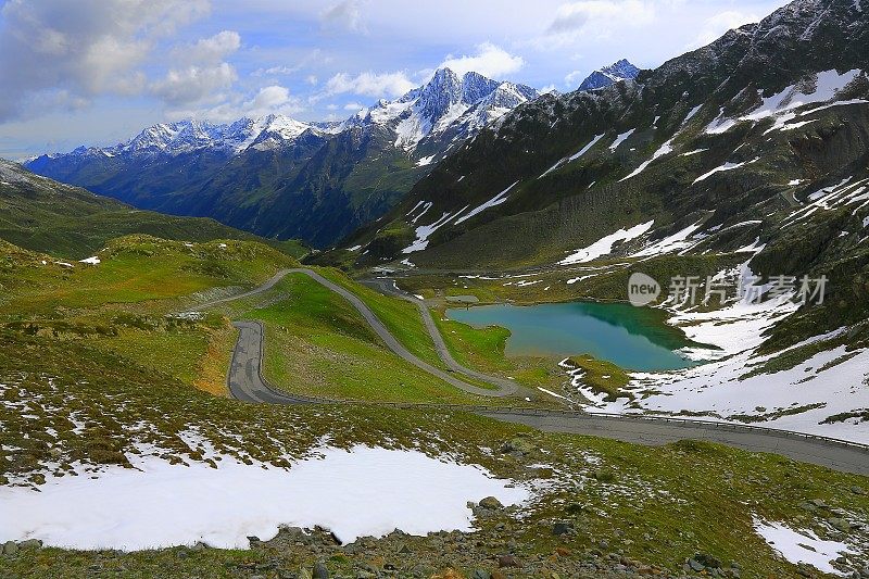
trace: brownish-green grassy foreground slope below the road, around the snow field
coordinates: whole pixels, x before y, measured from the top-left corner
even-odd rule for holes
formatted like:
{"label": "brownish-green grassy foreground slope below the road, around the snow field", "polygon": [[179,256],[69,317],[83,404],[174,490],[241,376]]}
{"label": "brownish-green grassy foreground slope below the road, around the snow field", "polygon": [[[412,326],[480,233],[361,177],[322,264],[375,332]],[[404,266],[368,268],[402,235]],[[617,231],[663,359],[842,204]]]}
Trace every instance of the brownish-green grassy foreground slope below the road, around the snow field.
{"label": "brownish-green grassy foreground slope below the road, around the snow field", "polygon": [[[796,566],[754,534],[753,516],[832,539],[841,533],[827,521],[831,509],[858,517],[869,509],[867,496],[853,490],[867,487],[865,477],[770,455],[690,442],[651,453],[643,446],[432,411],[238,404],[87,340],[8,329],[3,340],[15,345],[0,351],[0,378],[10,385],[0,398],[4,482],[26,476],[38,484],[40,465],[62,473],[72,471],[76,461],[123,464],[131,440],[163,449],[167,460],[202,461],[179,437],[194,429],[227,455],[278,466],[328,438],[341,448],[388,443],[449,453],[498,476],[537,481],[541,489],[519,511],[483,517],[469,537],[395,536],[361,547],[319,539],[287,544],[278,537],[274,545],[252,551],[25,550],[0,557],[4,577],[86,577],[95,569],[116,577],[252,577],[264,570],[311,569],[318,558],[332,574],[356,574],[367,565],[381,570],[389,564],[407,574],[423,565],[428,569],[424,577],[448,568],[458,574],[452,577],[470,577],[474,569],[496,570],[493,557],[508,552],[529,574],[544,577],[606,577],[625,562],[676,574],[698,552],[728,569],[735,563],[742,577],[795,577]],[[7,412],[8,404],[21,400],[28,401],[26,418]],[[524,451],[507,453],[509,444]],[[554,523],[571,530],[556,536]],[[862,531],[851,532],[861,537]]]}

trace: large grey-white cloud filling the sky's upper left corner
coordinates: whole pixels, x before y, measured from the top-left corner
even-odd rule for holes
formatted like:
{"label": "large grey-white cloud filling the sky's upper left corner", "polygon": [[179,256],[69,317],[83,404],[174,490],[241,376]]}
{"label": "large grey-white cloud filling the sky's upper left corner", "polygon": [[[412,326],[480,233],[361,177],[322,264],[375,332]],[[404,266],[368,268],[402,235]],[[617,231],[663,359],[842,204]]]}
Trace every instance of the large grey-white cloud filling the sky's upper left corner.
{"label": "large grey-white cloud filling the sky's upper left corner", "polygon": [[158,40],[209,10],[207,0],[9,0],[0,9],[0,121],[26,116],[33,102],[140,92]]}

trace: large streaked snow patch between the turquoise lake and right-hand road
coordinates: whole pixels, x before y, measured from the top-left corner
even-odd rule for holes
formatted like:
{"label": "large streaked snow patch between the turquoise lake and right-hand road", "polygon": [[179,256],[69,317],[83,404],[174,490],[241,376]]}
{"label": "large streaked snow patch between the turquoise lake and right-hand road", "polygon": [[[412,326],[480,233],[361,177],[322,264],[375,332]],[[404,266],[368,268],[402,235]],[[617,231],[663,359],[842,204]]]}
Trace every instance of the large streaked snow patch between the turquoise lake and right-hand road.
{"label": "large streaked snow patch between the turquoise lake and right-hand road", "polygon": [[[754,278],[747,263],[721,275],[727,279]],[[865,423],[861,426],[857,418],[822,423],[829,416],[869,407],[869,349],[847,352],[844,345],[830,347],[793,368],[747,376],[752,368],[781,354],[758,355],[755,350],[763,343],[766,330],[798,307],[790,295],[758,302],[757,294],[767,289],[757,287],[757,291],[745,292],[726,307],[709,312],[672,309],[675,304],[669,304],[673,314],[670,324],[691,340],[716,345],[720,352],[709,356],[714,357],[710,362],[692,368],[632,373],[629,389],[634,392],[633,402],[625,398],[605,402],[590,392],[594,402],[587,411],[702,413],[707,419],[725,421],[750,416],[760,420],[761,426],[867,442]],[[840,333],[811,338],[785,352]],[[581,378],[574,386],[585,394]]]}

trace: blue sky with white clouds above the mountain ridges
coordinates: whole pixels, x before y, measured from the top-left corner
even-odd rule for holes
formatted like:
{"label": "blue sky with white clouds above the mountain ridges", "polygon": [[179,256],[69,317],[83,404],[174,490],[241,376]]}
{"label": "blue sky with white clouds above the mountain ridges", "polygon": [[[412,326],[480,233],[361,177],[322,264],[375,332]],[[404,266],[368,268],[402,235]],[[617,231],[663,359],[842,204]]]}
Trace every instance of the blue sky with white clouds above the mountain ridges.
{"label": "blue sky with white clouds above the mountain ridges", "polygon": [[344,118],[444,65],[567,91],[602,65],[655,67],[784,3],[8,0],[0,156],[112,144],[186,117]]}

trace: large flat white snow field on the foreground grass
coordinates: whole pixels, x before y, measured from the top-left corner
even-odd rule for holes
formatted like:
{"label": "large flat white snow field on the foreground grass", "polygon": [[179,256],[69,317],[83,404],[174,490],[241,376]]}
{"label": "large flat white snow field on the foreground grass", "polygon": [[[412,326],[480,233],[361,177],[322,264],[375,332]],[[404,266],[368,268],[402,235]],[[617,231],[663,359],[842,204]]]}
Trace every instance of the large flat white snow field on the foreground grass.
{"label": "large flat white snow field on the foreground grass", "polygon": [[96,478],[49,478],[41,492],[0,489],[0,538],[47,545],[128,551],[204,541],[247,549],[248,536],[269,539],[278,525],[330,529],[341,542],[388,534],[471,529],[468,501],[495,496],[512,505],[524,487],[481,467],[418,451],[357,445],[326,448],[289,470],[224,457],[171,465],[148,457],[136,469],[111,467]]}

